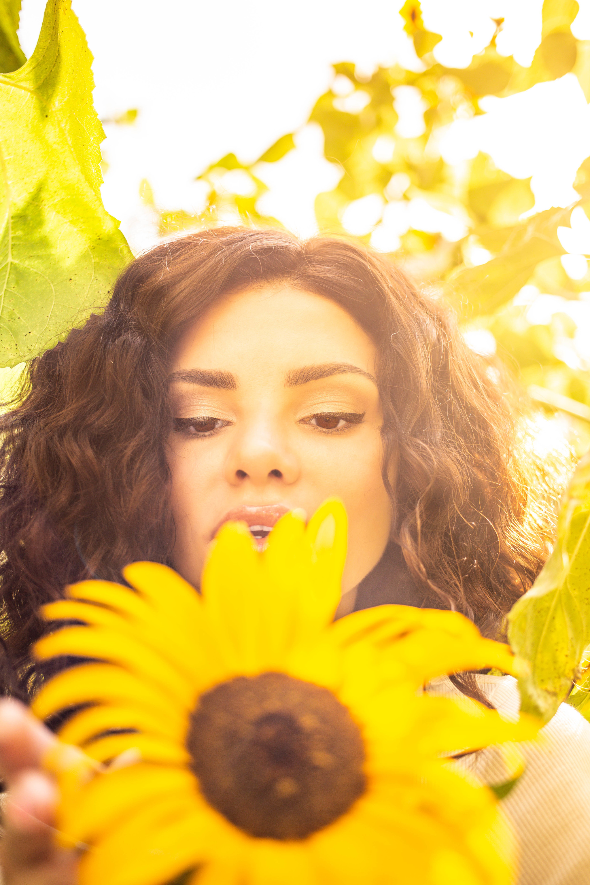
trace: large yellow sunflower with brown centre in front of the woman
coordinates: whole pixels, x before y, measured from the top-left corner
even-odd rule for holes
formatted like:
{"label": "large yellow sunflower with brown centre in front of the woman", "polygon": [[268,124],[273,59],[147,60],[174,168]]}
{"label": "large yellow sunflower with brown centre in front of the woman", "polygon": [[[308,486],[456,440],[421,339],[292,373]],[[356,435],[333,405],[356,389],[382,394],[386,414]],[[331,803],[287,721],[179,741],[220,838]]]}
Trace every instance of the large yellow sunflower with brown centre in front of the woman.
{"label": "large yellow sunflower with brown centre in front of the woman", "polygon": [[264,551],[226,524],[200,595],[137,562],[131,588],[82,581],[44,607],[68,624],[37,658],[91,659],[34,701],[70,713],[46,764],[58,827],[88,849],[80,885],[511,881],[492,792],[441,757],[535,728],[420,689],[514,658],[456,612],[334,622],[346,536],[337,501],[307,527],[287,513]]}

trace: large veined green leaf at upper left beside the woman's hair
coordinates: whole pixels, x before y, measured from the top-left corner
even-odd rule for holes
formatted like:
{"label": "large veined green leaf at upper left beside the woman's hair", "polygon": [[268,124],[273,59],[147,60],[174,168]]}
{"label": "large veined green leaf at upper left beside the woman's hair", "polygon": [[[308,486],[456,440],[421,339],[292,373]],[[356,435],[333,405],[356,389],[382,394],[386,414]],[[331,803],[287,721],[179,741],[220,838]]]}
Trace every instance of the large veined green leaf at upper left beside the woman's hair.
{"label": "large veined green leaf at upper left beside the woman's hair", "polygon": [[50,0],[33,55],[0,75],[0,365],[55,344],[132,258],[100,195],[103,127],[70,0]]}

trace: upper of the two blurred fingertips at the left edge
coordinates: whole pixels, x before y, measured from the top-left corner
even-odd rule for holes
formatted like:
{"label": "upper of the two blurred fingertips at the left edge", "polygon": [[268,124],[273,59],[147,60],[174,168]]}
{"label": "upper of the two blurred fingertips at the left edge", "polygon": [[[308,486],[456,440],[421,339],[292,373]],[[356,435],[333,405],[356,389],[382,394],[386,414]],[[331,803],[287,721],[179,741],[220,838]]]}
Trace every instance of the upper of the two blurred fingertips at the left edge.
{"label": "upper of the two blurred fingertips at the left edge", "polygon": [[55,735],[24,704],[11,698],[0,700],[0,777],[9,786],[23,769],[39,767],[55,741]]}

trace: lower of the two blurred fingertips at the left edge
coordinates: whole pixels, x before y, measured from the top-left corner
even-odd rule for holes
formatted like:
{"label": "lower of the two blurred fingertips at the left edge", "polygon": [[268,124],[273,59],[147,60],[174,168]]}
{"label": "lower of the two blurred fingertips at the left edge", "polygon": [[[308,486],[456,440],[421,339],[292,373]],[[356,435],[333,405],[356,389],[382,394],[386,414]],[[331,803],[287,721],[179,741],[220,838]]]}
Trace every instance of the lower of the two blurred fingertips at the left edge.
{"label": "lower of the two blurred fingertips at the left edge", "polygon": [[16,775],[4,805],[4,866],[18,869],[51,858],[56,802],[56,786],[46,774],[26,771]]}

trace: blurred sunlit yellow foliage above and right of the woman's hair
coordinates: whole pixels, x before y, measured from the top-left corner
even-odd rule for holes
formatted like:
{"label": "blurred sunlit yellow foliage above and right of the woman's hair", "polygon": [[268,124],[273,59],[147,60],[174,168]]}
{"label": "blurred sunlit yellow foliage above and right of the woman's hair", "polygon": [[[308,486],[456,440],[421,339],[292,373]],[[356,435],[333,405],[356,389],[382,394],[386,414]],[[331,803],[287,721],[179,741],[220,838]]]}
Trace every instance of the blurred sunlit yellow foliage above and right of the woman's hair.
{"label": "blurred sunlit yellow foliage above and right of the woman's hair", "polygon": [[[590,99],[590,41],[571,34],[578,11],[576,0],[545,0],[541,42],[529,67],[500,55],[495,42],[502,19],[494,19],[490,44],[461,69],[436,61],[441,35],[425,29],[418,0],[406,0],[404,27],[423,70],[393,65],[365,76],[349,62],[334,65],[333,86],[318,98],[309,121],[321,127],[326,159],[341,170],[338,185],[317,197],[318,229],[355,234],[394,255],[419,282],[444,292],[465,329],[494,335],[498,353],[533,395],[547,391],[540,403],[580,419],[586,412],[577,404],[590,406],[590,275],[572,280],[560,260],[566,250],[558,228],[568,227],[571,207],[533,214],[530,180],[513,178],[483,153],[450,165],[440,149],[451,123],[483,113],[484,96],[514,95],[572,72]],[[423,111],[413,131],[400,120],[408,102]],[[284,135],[254,163],[234,154],[219,159],[198,177],[207,194],[204,211],[159,212],[160,233],[236,220],[277,224],[259,208],[267,190],[261,174],[264,163],[294,146],[293,135]],[[575,187],[590,215],[590,161]],[[548,305],[542,322],[530,319],[535,289],[529,303],[522,296],[515,302],[527,284],[555,296],[555,310]],[[584,334],[584,311],[572,312],[568,303],[586,298]],[[578,430],[580,423],[574,422]]]}

